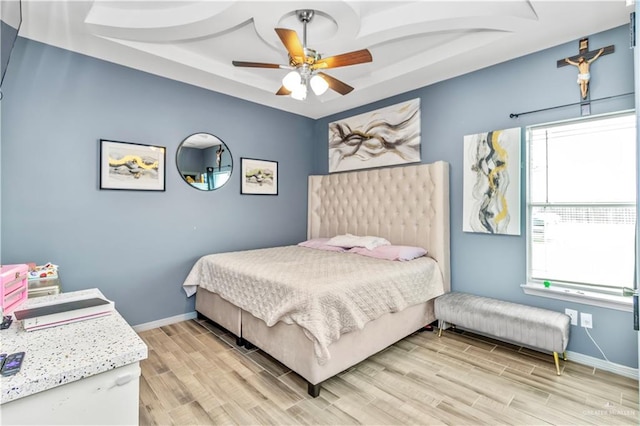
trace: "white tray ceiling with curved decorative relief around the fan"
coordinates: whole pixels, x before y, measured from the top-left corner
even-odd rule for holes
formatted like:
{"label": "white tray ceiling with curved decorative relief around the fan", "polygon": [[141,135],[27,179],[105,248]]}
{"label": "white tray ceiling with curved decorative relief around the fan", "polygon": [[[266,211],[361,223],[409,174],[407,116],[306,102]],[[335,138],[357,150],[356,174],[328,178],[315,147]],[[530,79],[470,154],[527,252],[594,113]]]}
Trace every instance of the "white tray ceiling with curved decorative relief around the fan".
{"label": "white tray ceiling with curved decorative relief around the fan", "polygon": [[[311,118],[624,25],[633,11],[625,0],[22,3],[23,37]],[[287,64],[274,28],[302,40],[298,9],[316,11],[307,44],[323,57],[370,50],[371,63],[326,71],[353,92],[296,101],[275,95],[287,70],[231,64]]]}

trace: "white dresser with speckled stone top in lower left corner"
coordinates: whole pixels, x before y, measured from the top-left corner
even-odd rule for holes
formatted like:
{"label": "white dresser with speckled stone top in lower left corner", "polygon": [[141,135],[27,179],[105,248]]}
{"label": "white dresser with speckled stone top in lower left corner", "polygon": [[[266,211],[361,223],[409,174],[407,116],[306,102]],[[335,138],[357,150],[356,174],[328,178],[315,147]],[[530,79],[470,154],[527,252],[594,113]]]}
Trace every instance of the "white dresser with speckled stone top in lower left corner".
{"label": "white dresser with speckled stone top in lower left corner", "polygon": [[[98,289],[29,299],[29,307]],[[0,331],[0,351],[25,351],[20,372],[1,377],[0,424],[138,424],[140,361],[147,346],[116,311],[77,323]]]}

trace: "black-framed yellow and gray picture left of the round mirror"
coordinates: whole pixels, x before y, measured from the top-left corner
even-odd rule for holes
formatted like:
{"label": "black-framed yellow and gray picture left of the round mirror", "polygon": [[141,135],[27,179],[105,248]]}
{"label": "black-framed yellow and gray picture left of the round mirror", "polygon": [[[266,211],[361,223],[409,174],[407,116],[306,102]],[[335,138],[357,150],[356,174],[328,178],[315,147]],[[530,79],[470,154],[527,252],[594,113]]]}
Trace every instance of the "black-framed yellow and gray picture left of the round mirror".
{"label": "black-framed yellow and gray picture left of the round mirror", "polygon": [[100,139],[100,189],[165,190],[166,149]]}

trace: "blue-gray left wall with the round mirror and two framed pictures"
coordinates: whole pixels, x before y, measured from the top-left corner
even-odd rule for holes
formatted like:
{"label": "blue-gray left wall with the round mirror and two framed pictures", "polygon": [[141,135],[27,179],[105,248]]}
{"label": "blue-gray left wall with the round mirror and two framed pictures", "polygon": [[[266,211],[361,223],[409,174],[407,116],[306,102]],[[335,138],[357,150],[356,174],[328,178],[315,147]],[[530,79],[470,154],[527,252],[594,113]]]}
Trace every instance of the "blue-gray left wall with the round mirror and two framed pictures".
{"label": "blue-gray left wall with the round mirror and two framed pictures", "polygon": [[[2,100],[2,262],[60,266],[65,291],[98,287],[131,324],[192,312],[181,284],[206,253],[306,237],[313,120],[18,39]],[[178,145],[225,141],[230,181],[199,191]],[[166,191],[100,190],[99,139],[167,148]],[[279,162],[278,196],[240,195],[240,157]]]}

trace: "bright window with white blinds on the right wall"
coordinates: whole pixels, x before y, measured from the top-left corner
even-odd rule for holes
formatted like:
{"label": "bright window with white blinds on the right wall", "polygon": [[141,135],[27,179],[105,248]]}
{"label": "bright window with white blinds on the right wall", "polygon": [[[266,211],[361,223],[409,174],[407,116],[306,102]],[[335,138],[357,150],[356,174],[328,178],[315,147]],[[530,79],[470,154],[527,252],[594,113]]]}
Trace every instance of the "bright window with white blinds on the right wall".
{"label": "bright window with white blinds on the right wall", "polygon": [[577,295],[634,287],[635,120],[624,113],[527,129],[525,287]]}

